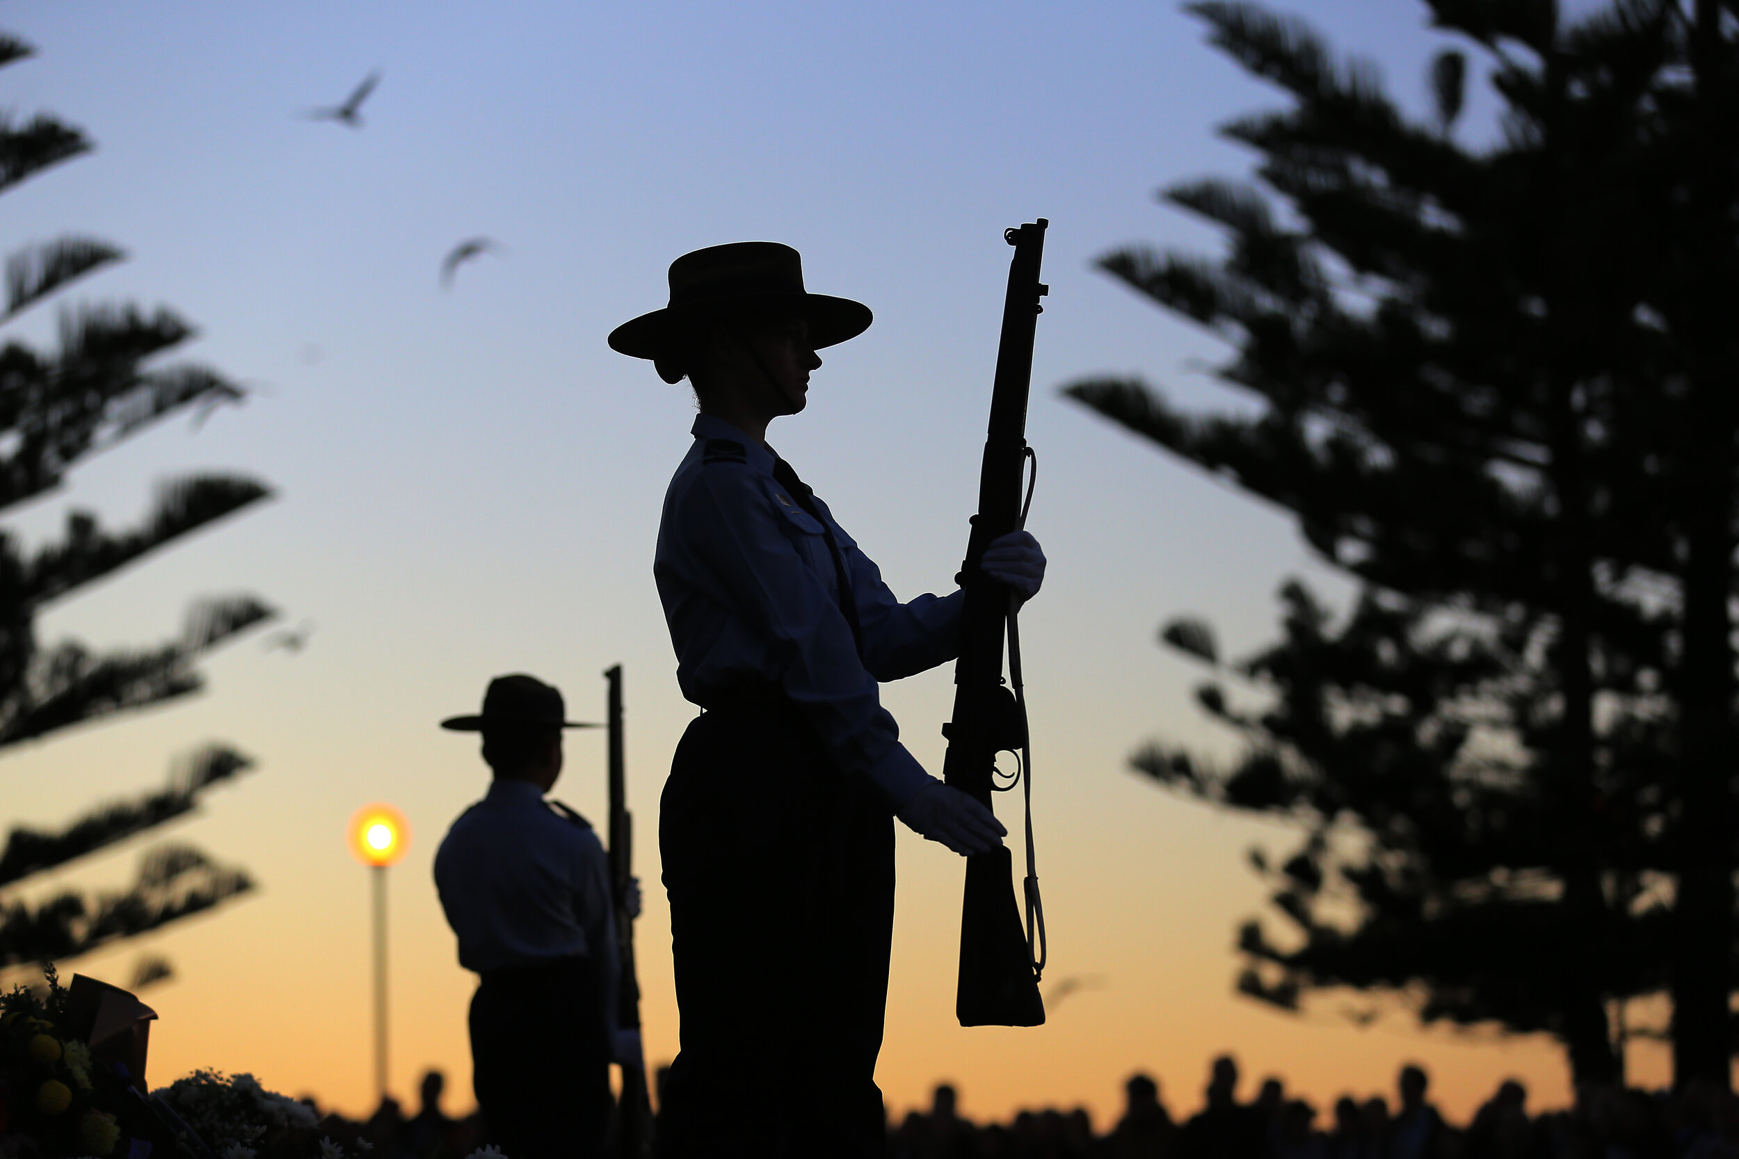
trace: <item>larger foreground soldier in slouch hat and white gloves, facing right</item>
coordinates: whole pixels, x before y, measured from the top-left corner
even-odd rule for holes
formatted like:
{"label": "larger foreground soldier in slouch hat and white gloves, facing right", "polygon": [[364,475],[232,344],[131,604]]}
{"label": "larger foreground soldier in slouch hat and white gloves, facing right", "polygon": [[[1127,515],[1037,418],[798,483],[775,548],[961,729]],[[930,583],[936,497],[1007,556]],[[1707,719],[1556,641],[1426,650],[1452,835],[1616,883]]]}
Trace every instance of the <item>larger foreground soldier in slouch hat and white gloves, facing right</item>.
{"label": "larger foreground soldier in slouch hat and white gloves, facing right", "polygon": [[[882,1156],[892,818],[956,853],[1005,832],[906,752],[876,690],[955,657],[960,593],[899,603],[765,443],[816,351],[870,318],[807,294],[796,250],[743,242],[678,257],[670,304],[610,334],[701,408],[654,566],[676,679],[706,709],[659,818],[682,1011],[668,1156]],[[984,570],[1031,596],[1043,554],[1009,535]]]}

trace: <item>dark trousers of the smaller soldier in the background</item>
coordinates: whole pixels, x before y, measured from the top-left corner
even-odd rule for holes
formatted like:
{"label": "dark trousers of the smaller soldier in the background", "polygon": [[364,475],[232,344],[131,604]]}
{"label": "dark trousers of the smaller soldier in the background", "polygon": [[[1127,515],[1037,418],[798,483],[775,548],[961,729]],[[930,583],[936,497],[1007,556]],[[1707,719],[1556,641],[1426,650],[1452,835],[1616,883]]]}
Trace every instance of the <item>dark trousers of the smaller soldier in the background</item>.
{"label": "dark trousers of the smaller soldier in the background", "polygon": [[471,1086],[508,1159],[603,1154],[610,1043],[588,959],[483,975],[471,997]]}

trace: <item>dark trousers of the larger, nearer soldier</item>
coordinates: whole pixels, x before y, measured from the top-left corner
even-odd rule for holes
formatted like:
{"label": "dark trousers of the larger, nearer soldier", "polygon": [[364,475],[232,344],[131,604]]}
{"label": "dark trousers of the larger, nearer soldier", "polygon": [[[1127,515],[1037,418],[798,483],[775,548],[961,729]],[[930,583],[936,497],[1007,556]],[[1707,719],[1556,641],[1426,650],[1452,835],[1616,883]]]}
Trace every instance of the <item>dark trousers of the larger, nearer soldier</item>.
{"label": "dark trousers of the larger, nearer soldier", "polygon": [[659,851],[682,1015],[659,1154],[880,1159],[885,798],[788,702],[715,709],[676,745]]}

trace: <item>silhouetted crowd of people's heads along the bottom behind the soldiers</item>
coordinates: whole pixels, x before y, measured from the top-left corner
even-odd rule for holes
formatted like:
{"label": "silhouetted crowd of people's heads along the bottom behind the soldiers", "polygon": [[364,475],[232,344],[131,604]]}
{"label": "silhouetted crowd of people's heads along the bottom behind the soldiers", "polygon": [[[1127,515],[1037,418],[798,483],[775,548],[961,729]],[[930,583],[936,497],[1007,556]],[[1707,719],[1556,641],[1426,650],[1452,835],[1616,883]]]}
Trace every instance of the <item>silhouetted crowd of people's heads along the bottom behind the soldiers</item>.
{"label": "silhouetted crowd of people's heads along the bottom behind the soldiers", "polygon": [[[661,1076],[663,1077],[663,1072]],[[1209,1067],[1202,1109],[1172,1116],[1146,1074],[1123,1084],[1123,1110],[1094,1129],[1085,1109],[1021,1110],[1007,1123],[960,1114],[958,1091],[939,1084],[929,1110],[889,1124],[889,1159],[1739,1159],[1739,1098],[1711,1084],[1678,1091],[1586,1086],[1576,1105],[1529,1112],[1527,1088],[1504,1079],[1464,1124],[1429,1098],[1429,1076],[1405,1065],[1393,1103],[1343,1095],[1315,1107],[1266,1077],[1238,1100],[1238,1063]],[[464,1159],[489,1133],[473,1112],[442,1110],[445,1079],[430,1070],[421,1105],[407,1116],[388,1098],[367,1121],[325,1116],[320,1129],[341,1143],[363,1140],[370,1159]],[[306,1100],[311,1103],[311,1100]],[[510,1156],[508,1159],[513,1159]]]}

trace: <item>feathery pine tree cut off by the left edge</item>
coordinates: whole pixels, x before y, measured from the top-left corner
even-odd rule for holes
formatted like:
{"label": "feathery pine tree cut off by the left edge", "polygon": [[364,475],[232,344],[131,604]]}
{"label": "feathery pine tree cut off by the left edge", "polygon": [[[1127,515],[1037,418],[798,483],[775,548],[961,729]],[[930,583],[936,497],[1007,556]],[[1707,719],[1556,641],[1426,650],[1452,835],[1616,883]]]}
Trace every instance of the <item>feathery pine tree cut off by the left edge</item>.
{"label": "feathery pine tree cut off by the left edge", "polygon": [[[0,35],[0,66],[33,50]],[[52,115],[0,116],[0,191],[90,149],[82,130]],[[78,236],[24,247],[5,262],[0,327],[73,281],[122,261],[120,248]],[[216,370],[162,358],[193,337],[170,309],[134,304],[63,306],[52,349],[9,339],[0,346],[0,511],[38,499],[85,457],[176,415],[240,401]],[[49,606],[181,537],[266,499],[249,478],[195,474],[158,488],[151,513],[122,530],[73,511],[59,542],[28,547],[0,530],[0,747],[40,740],[75,725],[190,695],[200,657],[273,612],[254,596],[197,601],[179,639],[92,653],[75,641],[42,645],[35,620]],[[179,759],[169,784],[111,801],[56,831],[14,827],[0,848],[0,890],[136,838],[197,808],[198,799],[252,761],[209,744]],[[157,844],[129,890],[85,897],[63,890],[31,905],[0,900],[0,968],[68,959],[207,911],[252,886],[245,871],[214,864],[183,843]],[[139,980],[167,973],[141,963]]]}

